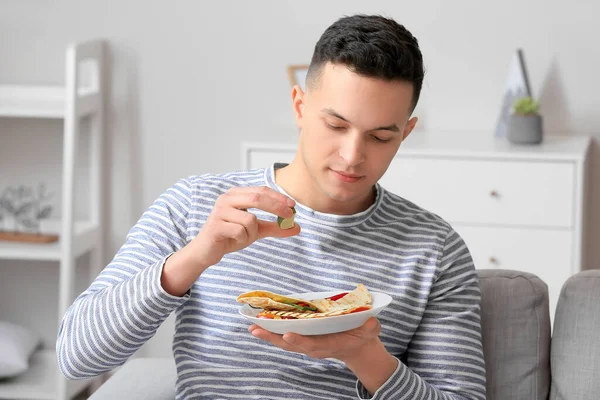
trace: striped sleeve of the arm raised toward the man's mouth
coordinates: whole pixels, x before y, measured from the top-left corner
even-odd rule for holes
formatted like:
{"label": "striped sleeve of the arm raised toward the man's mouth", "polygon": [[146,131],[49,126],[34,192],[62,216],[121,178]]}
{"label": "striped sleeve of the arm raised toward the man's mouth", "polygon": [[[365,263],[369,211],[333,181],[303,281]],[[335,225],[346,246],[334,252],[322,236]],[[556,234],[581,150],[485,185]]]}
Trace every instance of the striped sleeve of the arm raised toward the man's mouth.
{"label": "striped sleeve of the arm raised toward the man's mouth", "polygon": [[189,297],[168,294],[160,279],[166,259],[186,244],[191,198],[185,179],[166,190],[67,310],[56,342],[67,378],[88,378],[122,365]]}

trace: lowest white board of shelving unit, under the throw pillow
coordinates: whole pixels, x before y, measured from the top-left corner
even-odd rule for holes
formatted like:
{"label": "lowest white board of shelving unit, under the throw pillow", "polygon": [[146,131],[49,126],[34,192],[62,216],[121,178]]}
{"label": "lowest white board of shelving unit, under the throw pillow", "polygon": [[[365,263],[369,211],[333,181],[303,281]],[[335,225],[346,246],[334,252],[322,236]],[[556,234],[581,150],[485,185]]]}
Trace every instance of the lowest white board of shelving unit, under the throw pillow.
{"label": "lowest white board of shelving unit, under the throw pillow", "polygon": [[[40,350],[30,358],[30,368],[13,379],[0,381],[0,399],[54,400],[58,397],[60,375],[56,353],[53,350]],[[67,381],[68,398],[80,393],[92,379]]]}

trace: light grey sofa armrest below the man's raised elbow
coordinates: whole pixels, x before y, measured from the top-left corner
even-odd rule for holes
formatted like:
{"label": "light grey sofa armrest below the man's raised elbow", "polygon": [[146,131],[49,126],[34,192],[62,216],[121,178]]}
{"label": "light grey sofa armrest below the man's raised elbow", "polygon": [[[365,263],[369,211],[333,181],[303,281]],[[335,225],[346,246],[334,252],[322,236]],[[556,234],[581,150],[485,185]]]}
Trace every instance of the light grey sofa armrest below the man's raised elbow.
{"label": "light grey sofa armrest below the man's raised elbow", "polygon": [[90,400],[173,400],[177,372],[171,358],[127,361]]}

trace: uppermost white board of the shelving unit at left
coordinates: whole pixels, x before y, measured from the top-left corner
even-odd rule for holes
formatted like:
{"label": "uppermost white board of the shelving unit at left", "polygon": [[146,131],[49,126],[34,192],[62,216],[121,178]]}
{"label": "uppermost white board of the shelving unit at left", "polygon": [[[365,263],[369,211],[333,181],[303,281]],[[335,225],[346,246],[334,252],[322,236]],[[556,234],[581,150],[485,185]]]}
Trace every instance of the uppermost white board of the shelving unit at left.
{"label": "uppermost white board of the shelving unit at left", "polygon": [[61,86],[0,85],[0,116],[64,118],[65,89]]}

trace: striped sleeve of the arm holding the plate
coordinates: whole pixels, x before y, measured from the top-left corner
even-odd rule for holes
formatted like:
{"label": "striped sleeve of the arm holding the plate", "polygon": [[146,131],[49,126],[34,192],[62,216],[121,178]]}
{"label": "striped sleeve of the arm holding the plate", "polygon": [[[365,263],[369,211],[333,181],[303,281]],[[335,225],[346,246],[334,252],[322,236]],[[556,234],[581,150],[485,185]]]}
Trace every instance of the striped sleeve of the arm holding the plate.
{"label": "striped sleeve of the arm holding the plate", "polygon": [[359,399],[485,400],[479,279],[467,246],[450,230],[426,310],[392,376],[371,396],[357,382]]}

